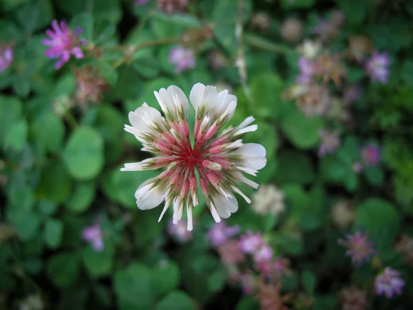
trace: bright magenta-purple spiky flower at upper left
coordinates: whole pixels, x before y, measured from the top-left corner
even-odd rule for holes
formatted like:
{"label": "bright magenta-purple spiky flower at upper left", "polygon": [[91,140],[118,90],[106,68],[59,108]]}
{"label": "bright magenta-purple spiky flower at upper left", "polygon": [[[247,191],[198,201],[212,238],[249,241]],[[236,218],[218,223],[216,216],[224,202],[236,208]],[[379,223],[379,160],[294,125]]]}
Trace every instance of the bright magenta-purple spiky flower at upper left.
{"label": "bright magenta-purple spiky flower at upper left", "polygon": [[52,30],[46,30],[50,39],[43,40],[43,44],[50,46],[50,48],[45,51],[45,56],[50,59],[60,59],[56,63],[57,70],[69,61],[70,56],[73,55],[76,59],[85,56],[81,50],[81,44],[86,44],[86,41],[78,39],[78,34],[81,32],[83,32],[81,28],[72,32],[65,21],[61,21],[59,27],[56,20],[52,21]]}

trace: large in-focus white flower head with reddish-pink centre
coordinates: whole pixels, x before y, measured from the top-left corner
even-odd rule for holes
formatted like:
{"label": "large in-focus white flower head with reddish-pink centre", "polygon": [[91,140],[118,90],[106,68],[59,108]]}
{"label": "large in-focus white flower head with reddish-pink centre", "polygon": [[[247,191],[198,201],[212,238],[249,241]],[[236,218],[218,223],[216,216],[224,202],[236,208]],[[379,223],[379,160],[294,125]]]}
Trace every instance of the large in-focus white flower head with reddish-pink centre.
{"label": "large in-focus white flower head with reddish-pink centre", "polygon": [[127,163],[121,170],[166,167],[159,176],[138,187],[135,193],[138,207],[152,209],[165,201],[160,220],[172,203],[173,223],[176,224],[186,205],[187,228],[192,230],[192,210],[198,205],[198,182],[217,223],[237,211],[238,203],[233,192],[251,203],[236,183],[243,182],[255,189],[258,187],[243,173],[255,176],[257,170],[266,165],[266,151],[262,145],[244,144],[240,139],[247,132],[257,130],[257,125],[250,125],[254,121],[252,116],[237,127],[221,131],[235,112],[237,98],[226,90],[218,93],[213,86],[194,85],[189,96],[195,108],[194,143],[191,144],[187,96],[174,85],[155,92],[155,96],[164,116],[144,103],[129,113],[131,126],[125,125],[125,130],[142,143],[143,151],[158,156],[140,163]]}

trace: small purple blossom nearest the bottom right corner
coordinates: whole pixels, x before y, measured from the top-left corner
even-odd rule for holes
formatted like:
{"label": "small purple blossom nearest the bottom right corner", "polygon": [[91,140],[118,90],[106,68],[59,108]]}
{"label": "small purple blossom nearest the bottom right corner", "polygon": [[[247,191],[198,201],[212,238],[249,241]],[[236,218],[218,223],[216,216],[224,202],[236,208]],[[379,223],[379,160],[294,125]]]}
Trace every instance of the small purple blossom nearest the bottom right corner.
{"label": "small purple blossom nearest the bottom right corner", "polygon": [[392,298],[394,295],[401,295],[404,280],[400,277],[399,271],[390,267],[385,267],[384,271],[374,280],[374,288],[377,295],[385,295]]}

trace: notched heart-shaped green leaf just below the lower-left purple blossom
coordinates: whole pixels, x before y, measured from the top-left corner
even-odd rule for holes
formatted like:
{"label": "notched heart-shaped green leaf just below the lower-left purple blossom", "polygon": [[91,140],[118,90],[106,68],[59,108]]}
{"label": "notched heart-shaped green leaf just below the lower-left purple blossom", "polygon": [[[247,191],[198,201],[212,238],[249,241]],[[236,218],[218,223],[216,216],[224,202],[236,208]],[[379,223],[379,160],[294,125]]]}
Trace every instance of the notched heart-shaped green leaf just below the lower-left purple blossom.
{"label": "notched heart-shaped green leaf just below the lower-left purple blossom", "polygon": [[96,251],[93,247],[83,249],[83,263],[92,277],[100,277],[109,274],[114,265],[114,247],[105,242],[103,251]]}

